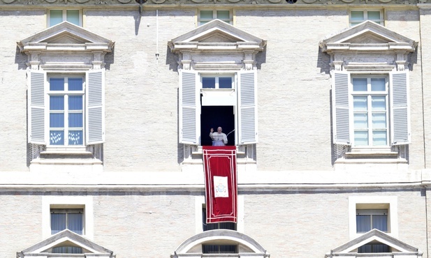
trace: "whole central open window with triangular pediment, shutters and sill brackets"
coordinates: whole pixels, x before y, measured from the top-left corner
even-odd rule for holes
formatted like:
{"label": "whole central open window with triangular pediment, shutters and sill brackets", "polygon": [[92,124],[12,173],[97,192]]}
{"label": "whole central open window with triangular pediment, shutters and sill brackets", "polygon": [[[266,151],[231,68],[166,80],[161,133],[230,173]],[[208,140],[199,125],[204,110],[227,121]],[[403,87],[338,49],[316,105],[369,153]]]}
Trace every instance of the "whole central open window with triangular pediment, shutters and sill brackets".
{"label": "whole central open window with triangular pediment, shutters and sill brackets", "polygon": [[[180,56],[179,141],[184,159],[211,145],[210,129],[223,128],[228,145],[254,160],[258,142],[256,54],[265,40],[212,20],[173,38]],[[200,151],[201,153],[201,151]]]}

